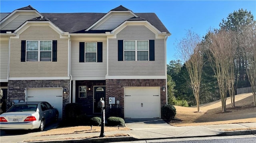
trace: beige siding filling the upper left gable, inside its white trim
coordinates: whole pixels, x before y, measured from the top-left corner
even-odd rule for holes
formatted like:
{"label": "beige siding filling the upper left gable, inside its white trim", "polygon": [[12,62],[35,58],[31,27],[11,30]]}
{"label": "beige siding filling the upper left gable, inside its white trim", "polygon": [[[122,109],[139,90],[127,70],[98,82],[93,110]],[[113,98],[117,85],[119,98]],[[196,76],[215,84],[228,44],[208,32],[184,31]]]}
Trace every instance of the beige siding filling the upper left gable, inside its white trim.
{"label": "beige siding filling the upper left gable, inside its white trim", "polygon": [[[17,14],[19,14],[19,13],[17,13]],[[36,16],[35,14],[19,15],[14,20],[12,20],[9,24],[5,25],[4,27],[1,27],[1,30],[15,30],[18,27],[20,27],[20,25],[22,25],[24,22],[26,22],[26,20],[30,20],[30,19],[36,18],[36,17],[38,17],[38,16]]]}

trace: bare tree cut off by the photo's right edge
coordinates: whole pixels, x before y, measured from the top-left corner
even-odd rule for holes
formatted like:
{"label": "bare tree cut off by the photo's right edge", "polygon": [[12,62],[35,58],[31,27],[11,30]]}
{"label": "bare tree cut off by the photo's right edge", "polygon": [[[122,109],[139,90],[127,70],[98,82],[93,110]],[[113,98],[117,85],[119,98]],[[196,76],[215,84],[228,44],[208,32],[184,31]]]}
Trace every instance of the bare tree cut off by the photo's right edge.
{"label": "bare tree cut off by the photo's right edge", "polygon": [[253,102],[256,106],[256,22],[243,27],[239,41],[242,43],[246,61],[246,73],[252,86]]}

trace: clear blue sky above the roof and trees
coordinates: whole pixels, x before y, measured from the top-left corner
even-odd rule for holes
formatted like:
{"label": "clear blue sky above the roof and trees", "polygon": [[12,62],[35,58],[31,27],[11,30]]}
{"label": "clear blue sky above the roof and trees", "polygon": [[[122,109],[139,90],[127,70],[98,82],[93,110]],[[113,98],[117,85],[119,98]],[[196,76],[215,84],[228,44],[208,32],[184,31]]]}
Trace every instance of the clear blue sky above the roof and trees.
{"label": "clear blue sky above the roof and trees", "polygon": [[172,33],[167,40],[167,63],[178,59],[175,43],[185,36],[187,29],[202,37],[209,28],[218,28],[223,18],[241,8],[251,11],[256,20],[256,0],[0,0],[0,12],[12,12],[28,5],[42,13],[107,13],[120,5],[134,13],[156,13]]}

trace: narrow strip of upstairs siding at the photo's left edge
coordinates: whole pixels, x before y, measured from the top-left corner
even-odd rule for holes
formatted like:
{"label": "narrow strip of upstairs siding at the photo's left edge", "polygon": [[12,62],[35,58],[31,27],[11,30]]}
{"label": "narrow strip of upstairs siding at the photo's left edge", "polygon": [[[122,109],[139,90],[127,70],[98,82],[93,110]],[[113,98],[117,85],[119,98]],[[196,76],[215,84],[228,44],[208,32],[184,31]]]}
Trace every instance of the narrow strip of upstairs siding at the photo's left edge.
{"label": "narrow strip of upstairs siding at the photo's left edge", "polygon": [[0,79],[7,80],[8,75],[8,40],[0,41]]}

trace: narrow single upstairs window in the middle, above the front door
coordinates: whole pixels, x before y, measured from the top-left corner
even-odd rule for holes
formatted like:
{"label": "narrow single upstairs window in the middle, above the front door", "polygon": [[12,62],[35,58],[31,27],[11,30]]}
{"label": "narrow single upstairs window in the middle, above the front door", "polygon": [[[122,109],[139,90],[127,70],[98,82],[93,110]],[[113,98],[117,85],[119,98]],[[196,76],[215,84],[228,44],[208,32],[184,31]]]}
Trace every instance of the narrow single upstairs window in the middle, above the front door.
{"label": "narrow single upstairs window in the middle, above the front door", "polygon": [[97,43],[85,43],[85,62],[96,62]]}

